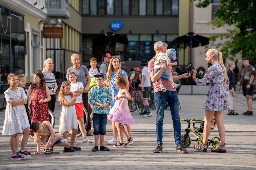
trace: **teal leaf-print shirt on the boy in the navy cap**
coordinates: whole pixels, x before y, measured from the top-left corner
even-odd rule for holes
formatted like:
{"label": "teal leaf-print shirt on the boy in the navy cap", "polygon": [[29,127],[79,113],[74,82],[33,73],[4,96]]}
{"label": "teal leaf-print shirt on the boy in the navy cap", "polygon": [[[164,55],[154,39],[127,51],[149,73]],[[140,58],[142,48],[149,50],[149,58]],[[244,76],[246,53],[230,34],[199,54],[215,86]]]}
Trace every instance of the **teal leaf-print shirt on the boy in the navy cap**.
{"label": "teal leaf-print shirt on the boy in the navy cap", "polygon": [[93,103],[96,101],[101,104],[105,104],[106,102],[111,104],[111,100],[112,100],[112,95],[107,86],[103,85],[102,89],[100,89],[98,85],[93,86],[91,88],[89,101],[90,101],[90,104],[93,105],[93,110],[92,110],[93,113],[108,114],[109,113],[108,107],[101,108],[100,106],[94,105]]}

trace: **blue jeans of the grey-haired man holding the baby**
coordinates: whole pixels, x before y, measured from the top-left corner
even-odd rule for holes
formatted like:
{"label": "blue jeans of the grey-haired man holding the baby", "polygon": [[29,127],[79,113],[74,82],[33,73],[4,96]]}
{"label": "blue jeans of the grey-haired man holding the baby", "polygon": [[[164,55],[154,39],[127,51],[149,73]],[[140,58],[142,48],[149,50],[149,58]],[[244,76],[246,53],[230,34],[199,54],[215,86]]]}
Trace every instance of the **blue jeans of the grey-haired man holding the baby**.
{"label": "blue jeans of the grey-haired man holding the baby", "polygon": [[156,137],[157,144],[163,145],[163,120],[164,120],[164,106],[166,101],[169,104],[172,114],[174,140],[176,146],[181,144],[181,122],[179,118],[179,99],[176,91],[155,92],[156,105]]}

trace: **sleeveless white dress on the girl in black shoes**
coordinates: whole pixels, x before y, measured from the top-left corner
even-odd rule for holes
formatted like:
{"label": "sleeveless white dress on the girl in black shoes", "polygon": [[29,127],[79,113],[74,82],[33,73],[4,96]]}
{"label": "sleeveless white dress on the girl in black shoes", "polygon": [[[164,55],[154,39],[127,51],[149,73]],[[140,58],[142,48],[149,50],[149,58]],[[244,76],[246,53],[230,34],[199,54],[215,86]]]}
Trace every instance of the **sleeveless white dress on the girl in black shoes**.
{"label": "sleeveless white dress on the girl in black shoes", "polygon": [[[65,100],[70,101],[71,96],[65,96]],[[62,106],[60,115],[60,129],[59,133],[69,131],[71,129],[78,129],[77,114],[74,106]]]}

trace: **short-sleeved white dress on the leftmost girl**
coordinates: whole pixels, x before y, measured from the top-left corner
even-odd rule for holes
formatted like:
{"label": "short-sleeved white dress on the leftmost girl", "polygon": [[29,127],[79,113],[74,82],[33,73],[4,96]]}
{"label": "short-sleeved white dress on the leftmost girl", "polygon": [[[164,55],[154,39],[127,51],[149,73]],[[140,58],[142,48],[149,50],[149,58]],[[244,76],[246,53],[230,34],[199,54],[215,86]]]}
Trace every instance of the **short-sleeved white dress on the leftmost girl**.
{"label": "short-sleeved white dress on the leftmost girl", "polygon": [[12,91],[11,89],[7,89],[4,92],[5,100],[7,101],[7,105],[5,108],[5,119],[3,126],[3,135],[13,135],[16,133],[22,133],[22,131],[29,126],[28,116],[26,112],[26,108],[24,105],[17,105],[11,107],[9,104],[13,98],[14,101],[20,100],[22,97],[23,100],[27,100],[28,97],[25,94],[23,88],[18,87],[17,91]]}

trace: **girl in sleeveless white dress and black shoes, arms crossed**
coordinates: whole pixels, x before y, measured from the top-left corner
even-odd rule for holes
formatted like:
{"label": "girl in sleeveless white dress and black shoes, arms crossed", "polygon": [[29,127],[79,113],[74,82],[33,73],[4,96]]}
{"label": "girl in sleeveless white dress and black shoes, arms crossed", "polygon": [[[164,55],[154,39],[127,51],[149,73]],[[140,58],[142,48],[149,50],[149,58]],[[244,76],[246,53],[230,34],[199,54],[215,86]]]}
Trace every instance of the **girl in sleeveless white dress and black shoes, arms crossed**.
{"label": "girl in sleeveless white dress and black shoes, arms crossed", "polygon": [[64,152],[74,152],[81,148],[74,145],[75,136],[77,134],[77,115],[75,112],[75,96],[70,92],[70,84],[64,81],[60,86],[58,102],[62,105],[60,115],[59,133],[63,133],[62,137],[68,139],[68,131],[71,130],[70,146],[64,147]]}

